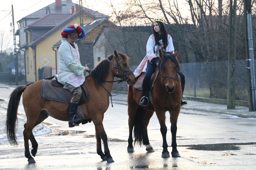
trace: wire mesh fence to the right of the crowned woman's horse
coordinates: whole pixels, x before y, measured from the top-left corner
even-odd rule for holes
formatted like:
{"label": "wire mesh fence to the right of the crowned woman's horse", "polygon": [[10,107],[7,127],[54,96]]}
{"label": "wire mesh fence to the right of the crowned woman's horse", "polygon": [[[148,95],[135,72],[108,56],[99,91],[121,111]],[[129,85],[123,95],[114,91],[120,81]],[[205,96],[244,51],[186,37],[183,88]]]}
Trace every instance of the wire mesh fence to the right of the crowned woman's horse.
{"label": "wire mesh fence to the right of the crowned woman's horse", "polygon": [[[180,64],[185,75],[184,95],[227,99],[228,61]],[[236,100],[248,100],[245,60],[236,60]]]}

